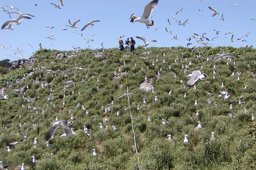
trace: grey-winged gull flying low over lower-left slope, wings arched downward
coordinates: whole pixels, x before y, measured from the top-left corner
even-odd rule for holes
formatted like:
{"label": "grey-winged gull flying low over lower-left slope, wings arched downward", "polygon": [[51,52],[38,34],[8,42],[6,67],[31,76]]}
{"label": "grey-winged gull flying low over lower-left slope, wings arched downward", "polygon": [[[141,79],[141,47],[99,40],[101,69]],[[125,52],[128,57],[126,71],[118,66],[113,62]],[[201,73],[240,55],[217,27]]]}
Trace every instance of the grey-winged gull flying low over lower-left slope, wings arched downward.
{"label": "grey-winged gull flying low over lower-left slope, wings arched downward", "polygon": [[72,123],[73,123],[72,121],[69,122],[66,120],[60,120],[60,121],[50,124],[50,127],[47,132],[47,136],[46,136],[46,141],[48,141],[52,137],[55,130],[57,128],[59,128],[60,126],[62,127],[63,131],[65,132],[65,135],[68,135],[69,134],[68,124],[72,124]]}

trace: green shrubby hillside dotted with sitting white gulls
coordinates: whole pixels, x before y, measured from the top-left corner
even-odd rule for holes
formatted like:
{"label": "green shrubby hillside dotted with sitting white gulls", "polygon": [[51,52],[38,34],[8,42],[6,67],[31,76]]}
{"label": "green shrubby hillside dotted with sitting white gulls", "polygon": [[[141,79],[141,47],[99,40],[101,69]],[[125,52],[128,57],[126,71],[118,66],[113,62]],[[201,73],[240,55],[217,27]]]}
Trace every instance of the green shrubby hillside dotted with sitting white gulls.
{"label": "green shrubby hillside dotted with sitting white gulls", "polygon": [[[149,50],[150,54],[141,54]],[[221,50],[236,54],[239,58],[231,58],[229,65],[226,64],[227,59],[217,61],[216,68],[210,68],[213,58]],[[108,54],[104,56],[106,59],[95,58],[92,53],[96,51],[90,49],[80,49],[78,52],[40,50],[31,56],[29,64],[26,63],[0,79],[1,87],[8,82],[4,91],[8,99],[0,101],[0,160],[4,164],[10,164],[8,169],[17,169],[21,163],[25,163],[27,169],[34,170],[138,169],[131,116],[129,109],[124,110],[124,106],[128,107],[127,97],[114,101],[108,113],[99,110],[101,106],[109,107],[112,100],[127,92],[125,75],[113,80],[114,71],[119,73],[119,67],[121,72],[126,70],[128,73],[129,92],[136,92],[129,95],[129,101],[141,169],[256,169],[256,126],[251,121],[251,114],[256,110],[256,50],[232,47],[196,51],[183,47],[152,47],[144,50],[139,46],[133,53],[123,53],[116,48],[104,49],[104,52]],[[130,56],[123,57],[123,54]],[[163,59],[167,63],[163,63]],[[189,65],[189,61],[192,65]],[[152,62],[155,63],[154,66]],[[186,73],[182,64],[190,67]],[[236,68],[233,70],[234,66]],[[58,75],[48,73],[43,76],[47,70],[44,67],[54,70]],[[60,72],[73,67],[90,71],[71,69],[67,76]],[[200,69],[208,79],[198,80],[195,83],[196,90],[192,90],[193,86],[184,88],[188,81],[186,76],[195,69]],[[214,70],[217,72],[215,79]],[[160,75],[157,76],[159,71]],[[230,76],[232,72],[241,72],[240,80],[237,79],[237,74]],[[145,76],[152,78],[155,93],[139,89]],[[63,82],[66,80],[74,81],[77,89],[74,86],[67,87],[64,92]],[[222,82],[224,87],[221,87]],[[42,88],[41,84],[45,83],[48,85]],[[247,89],[241,90],[246,84]],[[29,89],[23,93],[13,91],[23,86],[28,86]],[[171,95],[168,94],[170,90]],[[218,97],[219,91],[228,91],[231,97],[223,100],[223,96]],[[184,98],[185,93],[187,98]],[[47,100],[46,96],[49,97],[50,94],[57,96]],[[238,104],[242,95],[241,101],[246,103]],[[155,96],[161,102],[154,101]],[[26,102],[23,97],[36,98],[33,102]],[[143,98],[148,101],[147,104],[143,104]],[[208,104],[207,99],[214,103]],[[198,101],[198,106],[194,106],[195,100]],[[79,106],[76,107],[78,103]],[[233,109],[229,108],[230,104]],[[41,107],[41,110],[29,109],[28,105]],[[88,114],[82,110],[82,105],[88,110]],[[140,110],[137,110],[138,105]],[[116,116],[117,110],[119,116]],[[196,116],[196,110],[199,116]],[[226,112],[233,112],[235,117],[231,118]],[[73,130],[77,134],[62,138],[59,136],[63,134],[63,130],[59,128],[49,142],[51,146],[46,147],[49,125],[56,116],[59,120],[71,121],[71,114],[78,118],[73,124],[76,126]],[[105,121],[105,116],[108,121]],[[151,117],[150,122],[148,116]],[[162,119],[168,124],[163,125]],[[89,121],[90,138],[83,131],[83,126],[88,127]],[[198,121],[206,127],[196,129]],[[105,127],[100,129],[99,123],[108,126],[108,130]],[[118,128],[118,131],[114,131],[112,126]],[[7,131],[5,127],[8,128]],[[33,128],[28,132],[27,139],[23,140],[18,130],[25,133],[30,127]],[[215,142],[210,142],[211,132],[215,132]],[[172,142],[166,137],[169,134],[172,135]],[[189,136],[188,146],[183,144],[185,134]],[[35,137],[36,148],[33,147]],[[14,141],[19,144],[8,153],[6,147]],[[93,149],[96,150],[96,156],[92,155]],[[31,163],[31,156],[39,161],[36,165]]]}

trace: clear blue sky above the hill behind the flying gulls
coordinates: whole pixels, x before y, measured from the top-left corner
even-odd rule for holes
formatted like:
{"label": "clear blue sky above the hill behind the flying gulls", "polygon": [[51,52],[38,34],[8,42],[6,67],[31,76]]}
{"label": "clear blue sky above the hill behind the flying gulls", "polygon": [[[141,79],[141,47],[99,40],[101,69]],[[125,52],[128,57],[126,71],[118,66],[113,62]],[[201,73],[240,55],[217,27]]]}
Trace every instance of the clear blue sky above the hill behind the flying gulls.
{"label": "clear blue sky above the hill behind the flying gulls", "polygon": [[[152,20],[155,24],[150,29],[146,28],[143,23],[130,23],[128,16],[135,13],[141,16],[146,4],[151,0],[64,0],[62,7],[58,0],[1,0],[0,6],[6,8],[9,12],[17,12],[6,5],[12,5],[20,10],[23,14],[31,14],[35,17],[32,19],[21,20],[20,25],[13,24],[14,30],[0,30],[0,44],[8,49],[0,49],[0,60],[9,58],[11,61],[17,60],[14,57],[20,57],[17,53],[14,55],[16,48],[23,50],[23,58],[28,58],[32,52],[38,50],[39,43],[42,43],[47,49],[57,50],[72,50],[74,47],[81,47],[82,49],[101,48],[103,43],[104,48],[117,47],[117,38],[121,35],[125,37],[133,37],[136,41],[135,47],[142,45],[142,40],[135,38],[135,36],[146,35],[147,41],[156,40],[150,46],[157,47],[172,47],[172,46],[186,46],[188,44],[187,37],[193,33],[202,34],[209,38],[207,41],[212,46],[233,46],[244,47],[245,45],[255,45],[256,37],[256,22],[251,20],[256,18],[256,1],[255,0],[159,0],[157,7],[153,10]],[[34,4],[37,6],[34,6]],[[60,5],[59,8],[54,8],[55,3]],[[239,6],[233,6],[238,4]],[[208,6],[214,8],[219,12],[219,15],[212,17],[212,11]],[[179,12],[173,19],[173,15]],[[198,12],[197,9],[203,11]],[[223,14],[226,20],[220,20]],[[7,20],[18,18],[18,15],[11,14],[11,19],[3,9],[0,8],[0,26]],[[169,18],[172,25],[167,24]],[[68,19],[73,23],[80,19],[77,24],[79,30],[76,33],[74,28],[67,27]],[[188,24],[179,26],[175,20],[184,22],[188,19]],[[87,22],[93,20],[100,20],[94,24],[92,28],[86,28],[80,31]],[[45,28],[46,26],[54,27],[53,29]],[[166,33],[165,27],[171,30],[173,34]],[[68,29],[61,31],[61,29]],[[157,29],[154,32],[154,29]],[[221,32],[216,35],[214,30]],[[232,31],[232,34],[224,35],[227,31]],[[45,38],[55,33],[54,39]],[[78,33],[83,33],[80,37]],[[247,42],[237,40],[245,34],[248,37],[243,37]],[[94,37],[89,34],[97,34]],[[171,39],[177,35],[178,40]],[[231,35],[234,35],[234,42],[229,41]],[[212,41],[212,38],[217,36]],[[227,37],[227,38],[224,38]],[[86,43],[84,39],[95,39],[94,42]],[[192,39],[190,47],[200,45],[196,42],[197,39]],[[204,40],[206,42],[206,40]],[[52,45],[54,43],[54,45]],[[11,47],[7,46],[10,45]],[[29,46],[33,46],[31,48]],[[11,56],[14,57],[11,57]]]}

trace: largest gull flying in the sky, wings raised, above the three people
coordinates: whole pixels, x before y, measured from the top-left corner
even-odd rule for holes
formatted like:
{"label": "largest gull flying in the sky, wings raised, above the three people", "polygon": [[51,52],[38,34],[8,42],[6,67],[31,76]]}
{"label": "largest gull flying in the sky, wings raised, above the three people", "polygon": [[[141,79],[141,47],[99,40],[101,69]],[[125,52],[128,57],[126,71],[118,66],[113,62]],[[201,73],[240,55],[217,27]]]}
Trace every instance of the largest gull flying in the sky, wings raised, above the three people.
{"label": "largest gull flying in the sky, wings raised, above the three people", "polygon": [[134,15],[131,19],[131,22],[132,23],[135,23],[135,22],[145,23],[147,28],[149,28],[149,26],[153,26],[154,21],[148,20],[148,18],[150,18],[154,8],[157,7],[158,1],[159,0],[153,0],[150,3],[148,3],[144,8],[144,12],[143,12],[142,16],[139,17],[139,16]]}

